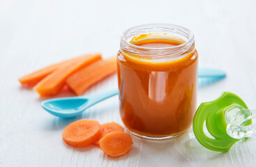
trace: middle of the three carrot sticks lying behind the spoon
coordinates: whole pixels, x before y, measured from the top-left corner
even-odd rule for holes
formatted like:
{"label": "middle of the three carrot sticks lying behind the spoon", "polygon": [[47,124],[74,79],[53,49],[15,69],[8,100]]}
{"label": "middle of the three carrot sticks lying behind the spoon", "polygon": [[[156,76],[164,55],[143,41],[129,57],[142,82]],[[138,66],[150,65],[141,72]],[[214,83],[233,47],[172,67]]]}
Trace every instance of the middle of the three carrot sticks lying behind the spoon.
{"label": "middle of the three carrot sticks lying behind the spoon", "polygon": [[89,65],[89,63],[100,59],[100,54],[87,54],[76,61],[71,61],[70,63],[61,65],[61,67],[52,72],[52,74],[49,74],[40,81],[34,89],[40,94],[40,96],[57,95],[64,86],[66,79],[71,74],[80,70],[82,67]]}

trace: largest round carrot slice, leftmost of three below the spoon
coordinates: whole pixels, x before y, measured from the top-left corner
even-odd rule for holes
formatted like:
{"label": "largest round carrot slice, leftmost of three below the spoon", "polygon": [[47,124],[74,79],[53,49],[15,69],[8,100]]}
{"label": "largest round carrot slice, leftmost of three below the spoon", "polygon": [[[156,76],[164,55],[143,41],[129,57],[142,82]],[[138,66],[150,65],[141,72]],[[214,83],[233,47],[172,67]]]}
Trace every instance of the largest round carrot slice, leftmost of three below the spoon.
{"label": "largest round carrot slice, leftmost of three below the spoon", "polygon": [[96,120],[77,120],[62,133],[63,141],[73,147],[82,148],[96,141],[100,136],[100,124]]}

